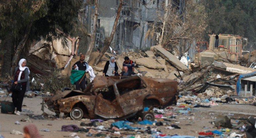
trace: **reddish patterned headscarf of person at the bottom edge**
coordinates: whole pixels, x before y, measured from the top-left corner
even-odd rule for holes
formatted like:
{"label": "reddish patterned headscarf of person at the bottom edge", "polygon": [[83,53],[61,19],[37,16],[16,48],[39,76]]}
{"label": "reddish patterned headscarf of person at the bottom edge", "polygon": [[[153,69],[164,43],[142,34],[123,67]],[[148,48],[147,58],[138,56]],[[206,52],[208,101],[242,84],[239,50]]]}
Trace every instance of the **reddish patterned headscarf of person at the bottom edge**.
{"label": "reddish patterned headscarf of person at the bottom edge", "polygon": [[37,126],[34,124],[25,125],[24,128],[24,138],[42,138],[37,130]]}

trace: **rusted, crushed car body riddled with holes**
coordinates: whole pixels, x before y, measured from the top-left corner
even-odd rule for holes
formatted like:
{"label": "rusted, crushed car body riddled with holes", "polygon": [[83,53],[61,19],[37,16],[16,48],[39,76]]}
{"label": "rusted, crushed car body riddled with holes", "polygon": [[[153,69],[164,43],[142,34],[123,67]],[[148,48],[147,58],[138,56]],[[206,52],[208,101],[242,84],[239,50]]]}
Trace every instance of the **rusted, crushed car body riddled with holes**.
{"label": "rusted, crushed car body riddled with holes", "polygon": [[170,79],[96,76],[84,92],[58,91],[44,101],[50,110],[69,113],[72,119],[124,119],[143,111],[144,107],[176,104],[177,89],[177,82]]}

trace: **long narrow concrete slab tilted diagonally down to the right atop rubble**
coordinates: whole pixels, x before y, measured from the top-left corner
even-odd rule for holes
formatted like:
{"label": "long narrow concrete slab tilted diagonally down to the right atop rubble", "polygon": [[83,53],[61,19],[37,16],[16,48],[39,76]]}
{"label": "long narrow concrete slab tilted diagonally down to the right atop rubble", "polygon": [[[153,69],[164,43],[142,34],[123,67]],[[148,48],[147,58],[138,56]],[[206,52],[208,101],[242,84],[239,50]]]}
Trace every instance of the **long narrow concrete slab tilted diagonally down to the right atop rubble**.
{"label": "long narrow concrete slab tilted diagonally down to the right atop rubble", "polygon": [[181,71],[189,71],[189,68],[185,66],[175,55],[171,54],[163,47],[154,47],[156,53],[160,54],[165,60],[169,61],[173,66]]}

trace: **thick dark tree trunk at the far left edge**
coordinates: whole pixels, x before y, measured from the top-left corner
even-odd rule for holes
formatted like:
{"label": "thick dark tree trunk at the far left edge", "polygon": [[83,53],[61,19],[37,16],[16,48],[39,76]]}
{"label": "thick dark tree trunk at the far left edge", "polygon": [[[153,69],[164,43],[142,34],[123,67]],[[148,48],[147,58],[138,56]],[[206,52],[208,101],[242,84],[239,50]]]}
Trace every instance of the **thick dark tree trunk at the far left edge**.
{"label": "thick dark tree trunk at the far left edge", "polygon": [[14,37],[11,35],[8,35],[5,38],[4,42],[4,56],[3,56],[3,66],[2,66],[2,77],[7,77],[7,74],[12,74],[12,72],[10,72],[10,68],[11,68],[11,62],[12,62],[12,49],[14,47]]}

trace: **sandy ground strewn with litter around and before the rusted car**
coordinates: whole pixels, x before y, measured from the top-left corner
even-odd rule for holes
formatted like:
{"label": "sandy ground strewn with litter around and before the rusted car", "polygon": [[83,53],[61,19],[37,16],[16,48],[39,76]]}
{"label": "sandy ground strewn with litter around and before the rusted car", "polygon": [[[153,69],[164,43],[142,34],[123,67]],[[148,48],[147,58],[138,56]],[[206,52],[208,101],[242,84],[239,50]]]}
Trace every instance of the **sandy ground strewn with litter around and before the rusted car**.
{"label": "sandy ground strewn with litter around and before the rusted car", "polygon": [[[1,101],[4,100],[4,98],[0,98]],[[11,101],[11,98],[8,97],[7,100]],[[181,98],[179,100],[179,103],[181,103],[184,99]],[[39,97],[33,97],[33,98],[24,98],[24,102],[23,108],[29,109],[34,111],[33,113],[35,115],[41,115],[43,113],[43,111],[41,111],[41,103],[42,103],[42,98]],[[208,131],[208,130],[219,130],[217,128],[214,127],[214,125],[211,123],[213,121],[215,121],[215,117],[218,114],[222,114],[222,115],[231,115],[231,117],[235,117],[235,118],[247,118],[248,116],[254,116],[256,115],[256,110],[252,110],[253,108],[255,108],[255,106],[252,105],[248,105],[248,104],[244,104],[244,105],[235,105],[235,104],[223,104],[223,105],[215,105],[215,106],[211,106],[211,108],[202,108],[199,107],[198,109],[200,110],[204,110],[204,111],[196,111],[196,112],[192,112],[192,113],[188,113],[188,114],[181,114],[181,113],[177,113],[178,110],[182,110],[182,107],[178,107],[176,106],[169,106],[170,108],[173,108],[171,110],[166,110],[166,113],[168,114],[164,114],[164,116],[171,116],[170,114],[175,114],[177,115],[175,119],[171,119],[171,118],[167,118],[170,120],[170,123],[178,125],[179,127],[181,127],[181,129],[166,129],[166,126],[155,126],[155,125],[140,125],[140,124],[131,124],[132,127],[151,127],[151,128],[158,128],[159,131],[161,131],[163,134],[167,134],[167,135],[174,135],[174,134],[178,134],[178,135],[190,135],[190,136],[195,136],[198,137],[198,133],[202,132],[202,131]],[[207,111],[207,110],[211,110],[211,111]],[[215,112],[217,111],[217,112]],[[222,112],[218,112],[218,111],[222,111]],[[243,114],[234,114],[232,115],[232,112],[236,111],[239,113],[249,113],[250,115],[243,115]],[[48,114],[55,114],[54,112],[49,111],[48,109],[45,108],[45,112]],[[77,125],[78,127],[82,127],[80,126],[81,122],[85,122],[85,123],[89,123],[88,119],[82,119],[82,120],[70,120],[68,118],[64,118],[64,119],[31,119],[30,120],[32,122],[22,122],[21,119],[26,119],[29,116],[27,115],[27,112],[21,112],[21,115],[15,115],[15,114],[3,114],[0,113],[0,134],[3,135],[5,138],[21,138],[23,137],[22,135],[14,135],[14,134],[10,134],[10,132],[12,130],[17,130],[20,132],[23,132],[23,127],[26,124],[29,123],[33,123],[35,124],[38,129],[49,129],[51,132],[44,132],[44,131],[40,131],[40,134],[44,137],[44,138],[62,138],[62,137],[68,137],[68,134],[70,134],[71,132],[63,132],[61,131],[61,128],[63,125],[69,125],[69,124],[74,124]],[[254,115],[252,115],[254,114]],[[163,120],[162,118],[156,118],[157,121],[161,121]],[[16,121],[19,121],[21,123],[21,125],[15,124]],[[111,128],[111,121],[107,120],[105,122],[97,122],[97,125],[103,125],[105,128]],[[231,119],[231,123],[236,125],[238,122],[236,120]],[[91,127],[90,127],[91,128]],[[92,127],[93,128],[93,127]],[[138,134],[138,132],[135,131],[121,131],[121,130],[117,130],[118,132],[121,133],[121,135],[119,134],[113,134],[110,132],[102,132],[102,133],[108,133],[108,135],[111,137],[127,137],[127,135],[131,134],[131,135],[136,135]],[[231,129],[231,132],[236,132],[239,133],[239,130],[235,130],[235,129]],[[225,132],[225,134],[230,134],[231,132]],[[99,132],[96,132],[99,133]],[[139,134],[141,137],[150,137],[151,134],[147,134],[147,133],[143,133],[140,132],[141,134]],[[85,138],[87,133],[77,133],[77,135],[80,138]],[[94,136],[95,137],[95,134]],[[220,136],[216,136],[216,137],[220,137]]]}

